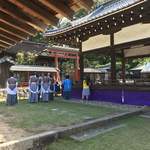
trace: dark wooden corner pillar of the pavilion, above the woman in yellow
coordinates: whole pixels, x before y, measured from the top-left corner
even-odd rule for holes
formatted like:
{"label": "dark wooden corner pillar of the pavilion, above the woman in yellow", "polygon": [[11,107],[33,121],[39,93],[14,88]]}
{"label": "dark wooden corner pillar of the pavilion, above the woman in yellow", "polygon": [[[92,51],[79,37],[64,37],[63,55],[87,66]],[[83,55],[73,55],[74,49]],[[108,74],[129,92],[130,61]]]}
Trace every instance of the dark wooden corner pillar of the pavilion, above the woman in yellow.
{"label": "dark wooden corner pillar of the pavilion, above the woman in yellow", "polygon": [[79,67],[80,67],[80,80],[83,81],[84,60],[83,60],[83,52],[82,52],[82,42],[79,43]]}

